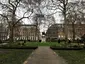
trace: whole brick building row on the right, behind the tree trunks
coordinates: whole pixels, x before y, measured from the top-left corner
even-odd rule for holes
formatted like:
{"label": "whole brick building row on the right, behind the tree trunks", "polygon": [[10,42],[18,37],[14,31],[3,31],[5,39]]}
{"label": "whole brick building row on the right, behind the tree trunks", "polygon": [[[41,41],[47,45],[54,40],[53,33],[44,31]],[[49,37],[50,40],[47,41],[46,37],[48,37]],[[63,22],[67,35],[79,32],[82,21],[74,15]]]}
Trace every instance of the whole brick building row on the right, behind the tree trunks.
{"label": "whole brick building row on the right, behind the tree trunks", "polygon": [[[65,24],[54,24],[50,26],[46,32],[46,40],[57,40],[65,39]],[[75,27],[75,39],[81,38],[85,34],[85,24],[74,24]],[[73,39],[73,28],[72,24],[67,25],[67,37],[68,39]]]}

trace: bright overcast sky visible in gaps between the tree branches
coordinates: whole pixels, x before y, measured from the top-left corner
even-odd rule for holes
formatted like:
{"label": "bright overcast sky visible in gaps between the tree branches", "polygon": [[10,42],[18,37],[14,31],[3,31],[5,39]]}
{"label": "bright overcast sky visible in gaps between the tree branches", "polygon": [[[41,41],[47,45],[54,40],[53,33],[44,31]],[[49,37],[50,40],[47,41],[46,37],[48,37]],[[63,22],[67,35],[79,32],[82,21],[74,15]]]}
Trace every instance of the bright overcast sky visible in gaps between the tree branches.
{"label": "bright overcast sky visible in gaps between the tree branches", "polygon": [[[0,2],[3,2],[3,3],[6,3],[6,1],[7,1],[7,0],[0,0]],[[69,0],[69,2],[73,2],[73,1],[76,1],[76,0]],[[81,1],[81,0],[79,0],[79,1]],[[48,11],[48,12],[46,12],[46,11],[47,11],[46,9],[42,9],[42,13],[45,13],[45,14],[52,12],[52,11]],[[23,12],[24,12],[24,10],[18,11],[18,12],[17,12],[17,15],[22,16],[22,15],[23,15]],[[1,11],[0,11],[0,13],[1,13]],[[20,14],[21,14],[21,15],[20,15]],[[61,21],[60,15],[61,15],[61,14],[60,14],[59,12],[56,12],[56,14],[54,14],[56,23],[63,23],[63,22]],[[25,21],[24,23],[26,23],[26,24],[30,24],[30,23],[32,22],[31,19],[29,19],[29,20],[28,20],[28,19],[23,19],[23,21]],[[30,22],[28,22],[28,21],[30,21]],[[41,32],[47,30],[47,28],[44,28],[44,29],[43,29],[43,28],[44,28],[44,25],[41,26]]]}

